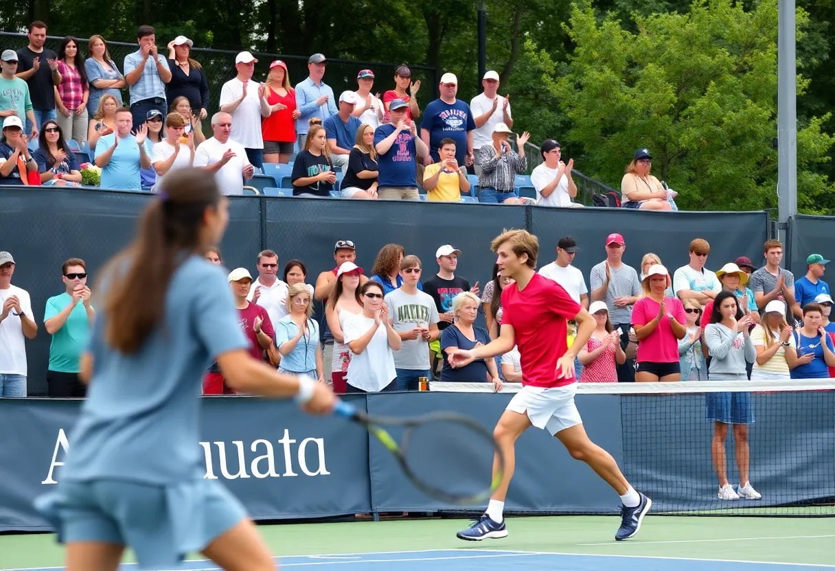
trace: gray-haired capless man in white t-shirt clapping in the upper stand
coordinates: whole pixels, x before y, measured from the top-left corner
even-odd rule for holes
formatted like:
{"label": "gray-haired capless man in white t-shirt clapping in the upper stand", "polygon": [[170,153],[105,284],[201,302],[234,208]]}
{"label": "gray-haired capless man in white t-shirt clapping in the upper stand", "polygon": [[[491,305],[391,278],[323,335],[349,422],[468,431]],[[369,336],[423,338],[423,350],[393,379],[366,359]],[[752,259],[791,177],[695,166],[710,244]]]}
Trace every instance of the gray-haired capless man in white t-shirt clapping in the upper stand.
{"label": "gray-haired capless man in white t-shirt clapping in the upper stand", "polygon": [[243,195],[244,179],[251,179],[255,169],[246,156],[244,146],[232,139],[232,116],[222,111],[211,118],[215,134],[205,139],[195,151],[195,167],[215,173],[215,180],[224,195]]}

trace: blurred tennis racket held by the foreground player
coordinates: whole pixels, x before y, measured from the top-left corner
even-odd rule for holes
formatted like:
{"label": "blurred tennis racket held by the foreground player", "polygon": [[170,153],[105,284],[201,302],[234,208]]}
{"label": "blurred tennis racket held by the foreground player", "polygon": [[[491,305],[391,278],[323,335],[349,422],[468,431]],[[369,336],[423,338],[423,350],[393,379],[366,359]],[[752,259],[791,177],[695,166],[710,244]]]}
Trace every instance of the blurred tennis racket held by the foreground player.
{"label": "blurred tennis racket held by the foreground player", "polygon": [[[418,417],[377,417],[359,411],[344,401],[337,404],[334,412],[366,427],[368,432],[392,452],[412,485],[431,498],[458,505],[483,503],[502,483],[504,455],[493,439],[493,433],[473,418],[458,412],[430,412]],[[400,443],[398,444],[383,427],[402,428]],[[433,466],[433,462],[427,462],[428,447],[440,446],[442,443],[445,447],[453,447],[452,452],[457,460],[455,463],[458,464],[454,467],[456,470],[473,465],[466,459],[468,453],[478,451],[478,456],[483,460],[483,452],[494,452],[498,457],[498,471],[489,485],[476,489],[475,492],[453,491],[453,486],[460,487],[460,480],[445,477],[447,467]],[[418,448],[422,448],[423,452],[410,453]],[[443,462],[443,458],[438,462]],[[450,484],[448,487],[442,487],[445,480]]]}

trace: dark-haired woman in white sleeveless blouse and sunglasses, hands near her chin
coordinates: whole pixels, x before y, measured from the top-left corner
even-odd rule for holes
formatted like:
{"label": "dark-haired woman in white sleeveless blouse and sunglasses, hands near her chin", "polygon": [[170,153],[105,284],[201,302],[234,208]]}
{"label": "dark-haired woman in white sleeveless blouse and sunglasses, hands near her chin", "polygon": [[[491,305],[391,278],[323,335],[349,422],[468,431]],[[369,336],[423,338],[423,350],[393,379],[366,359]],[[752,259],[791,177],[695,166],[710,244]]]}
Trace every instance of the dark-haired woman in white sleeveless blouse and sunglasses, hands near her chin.
{"label": "dark-haired woman in white sleeveless blouse and sunglasses, hands near her chin", "polygon": [[342,323],[342,334],[352,352],[346,392],[397,391],[392,351],[400,351],[402,341],[388,319],[382,284],[368,280],[360,293],[362,314]]}

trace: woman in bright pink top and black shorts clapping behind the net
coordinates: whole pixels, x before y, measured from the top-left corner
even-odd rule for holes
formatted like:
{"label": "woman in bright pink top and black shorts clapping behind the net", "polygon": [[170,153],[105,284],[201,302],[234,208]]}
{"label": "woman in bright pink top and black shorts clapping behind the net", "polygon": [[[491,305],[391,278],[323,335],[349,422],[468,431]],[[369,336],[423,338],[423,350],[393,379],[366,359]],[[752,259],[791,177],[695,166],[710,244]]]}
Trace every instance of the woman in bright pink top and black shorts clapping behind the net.
{"label": "woman in bright pink top and black shorts clapping behind the net", "polygon": [[687,334],[684,306],[665,297],[670,272],[660,264],[647,271],[641,288],[644,297],[632,309],[632,325],[638,336],[638,369],[635,382],[681,381],[678,341]]}

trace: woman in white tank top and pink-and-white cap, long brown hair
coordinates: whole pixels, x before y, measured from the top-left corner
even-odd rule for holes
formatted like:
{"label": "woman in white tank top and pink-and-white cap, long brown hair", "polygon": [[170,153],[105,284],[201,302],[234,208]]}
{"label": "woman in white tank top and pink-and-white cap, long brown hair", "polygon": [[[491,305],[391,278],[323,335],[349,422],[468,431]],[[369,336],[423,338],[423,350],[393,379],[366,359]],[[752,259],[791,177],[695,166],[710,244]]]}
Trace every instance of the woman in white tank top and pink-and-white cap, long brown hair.
{"label": "woman in white tank top and pink-and-white cap, long brown hair", "polygon": [[333,392],[346,392],[345,379],[351,363],[351,350],[345,342],[342,325],[350,316],[362,314],[360,296],[360,275],[362,268],[353,262],[344,262],[337,270],[337,283],[325,303],[325,318],[333,336],[333,358],[331,359],[331,382]]}

